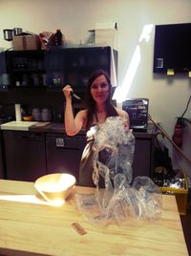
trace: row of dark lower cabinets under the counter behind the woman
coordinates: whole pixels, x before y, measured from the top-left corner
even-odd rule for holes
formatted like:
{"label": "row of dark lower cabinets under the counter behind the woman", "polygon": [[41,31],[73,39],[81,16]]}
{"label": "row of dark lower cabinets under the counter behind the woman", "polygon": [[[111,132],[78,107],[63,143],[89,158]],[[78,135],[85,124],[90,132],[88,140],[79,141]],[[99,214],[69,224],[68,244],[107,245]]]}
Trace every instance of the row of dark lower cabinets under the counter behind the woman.
{"label": "row of dark lower cabinets under the counter behind the woman", "polygon": [[[6,179],[35,181],[45,174],[67,172],[73,174],[78,182],[79,163],[86,145],[85,135],[68,137],[63,132],[5,130],[2,135]],[[155,136],[152,130],[134,135],[133,179],[137,176],[152,178]]]}

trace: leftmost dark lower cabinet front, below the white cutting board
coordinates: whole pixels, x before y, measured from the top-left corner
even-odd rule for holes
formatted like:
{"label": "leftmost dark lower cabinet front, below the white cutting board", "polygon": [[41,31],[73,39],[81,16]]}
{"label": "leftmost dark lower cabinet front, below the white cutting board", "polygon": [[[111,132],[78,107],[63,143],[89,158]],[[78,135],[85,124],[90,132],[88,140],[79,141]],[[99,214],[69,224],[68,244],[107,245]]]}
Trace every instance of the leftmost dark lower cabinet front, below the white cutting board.
{"label": "leftmost dark lower cabinet front, below the white cutting board", "polygon": [[45,134],[3,131],[6,179],[35,181],[46,174]]}

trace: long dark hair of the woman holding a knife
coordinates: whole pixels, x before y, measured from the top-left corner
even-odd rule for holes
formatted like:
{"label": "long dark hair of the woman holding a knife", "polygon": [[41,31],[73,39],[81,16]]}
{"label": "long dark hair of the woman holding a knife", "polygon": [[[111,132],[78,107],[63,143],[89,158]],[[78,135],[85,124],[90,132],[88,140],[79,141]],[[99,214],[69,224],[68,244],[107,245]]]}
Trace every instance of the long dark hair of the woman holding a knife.
{"label": "long dark hair of the woman holding a knife", "polygon": [[116,117],[118,116],[117,114],[117,110],[116,108],[113,106],[112,104],[112,96],[111,96],[111,91],[112,91],[112,84],[111,84],[111,80],[109,75],[107,75],[106,72],[102,71],[102,70],[97,70],[96,72],[94,72],[92,75],[90,75],[89,80],[88,80],[88,84],[87,84],[87,91],[86,91],[86,98],[85,98],[85,108],[87,109],[88,113],[87,113],[87,121],[86,121],[86,130],[89,130],[92,123],[93,123],[93,117],[94,114],[96,113],[96,101],[93,98],[92,94],[91,94],[91,87],[93,82],[96,80],[96,78],[100,75],[104,75],[108,85],[109,85],[109,96],[106,99],[106,113],[107,113],[107,117]]}

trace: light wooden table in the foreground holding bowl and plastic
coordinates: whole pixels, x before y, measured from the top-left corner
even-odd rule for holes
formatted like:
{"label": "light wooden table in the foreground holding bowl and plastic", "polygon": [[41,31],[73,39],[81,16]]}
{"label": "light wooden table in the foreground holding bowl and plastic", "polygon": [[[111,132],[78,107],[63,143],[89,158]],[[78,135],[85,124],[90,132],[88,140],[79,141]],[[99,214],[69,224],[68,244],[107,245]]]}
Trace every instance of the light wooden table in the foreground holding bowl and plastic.
{"label": "light wooden table in the foreground holding bowl and plastic", "polygon": [[[85,221],[72,200],[51,206],[38,199],[32,182],[0,180],[0,255],[188,255],[175,197],[163,195],[162,204],[158,221],[103,228]],[[87,234],[79,235],[73,223]]]}

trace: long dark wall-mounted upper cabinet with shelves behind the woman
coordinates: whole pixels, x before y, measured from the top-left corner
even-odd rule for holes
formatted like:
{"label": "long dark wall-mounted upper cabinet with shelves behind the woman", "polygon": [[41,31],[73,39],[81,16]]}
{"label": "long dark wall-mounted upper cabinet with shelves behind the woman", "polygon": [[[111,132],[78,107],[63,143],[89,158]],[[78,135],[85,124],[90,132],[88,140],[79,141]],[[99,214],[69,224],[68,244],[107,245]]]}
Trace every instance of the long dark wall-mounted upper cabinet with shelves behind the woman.
{"label": "long dark wall-mounted upper cabinet with shelves behind the woman", "polygon": [[[88,76],[97,69],[117,85],[117,51],[111,47],[53,47],[0,53],[0,103],[63,110],[61,88],[71,84],[83,100]],[[3,92],[2,92],[3,91]],[[79,103],[75,98],[75,103]]]}

